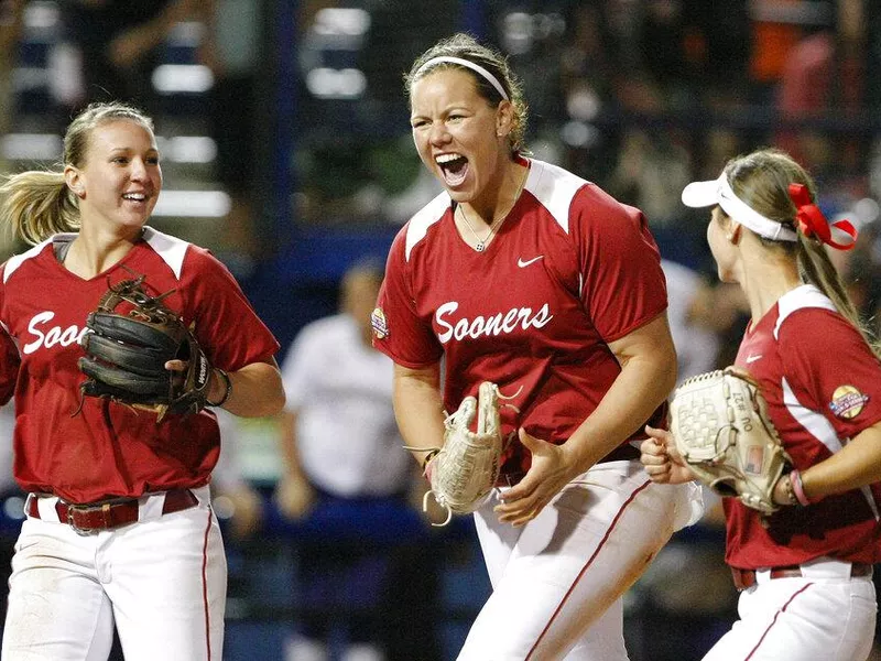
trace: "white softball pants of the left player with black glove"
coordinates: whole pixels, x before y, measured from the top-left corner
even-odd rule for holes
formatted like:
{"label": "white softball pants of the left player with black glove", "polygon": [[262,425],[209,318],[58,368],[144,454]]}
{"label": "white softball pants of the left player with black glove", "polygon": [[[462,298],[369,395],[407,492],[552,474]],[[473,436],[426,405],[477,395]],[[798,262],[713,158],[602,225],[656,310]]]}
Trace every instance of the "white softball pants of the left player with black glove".
{"label": "white softball pants of the left player with black glove", "polygon": [[126,661],[220,661],[224,543],[208,487],[192,491],[195,507],[162,514],[151,495],[139,522],[85,535],[41,499],[15,544],[2,658],[106,661],[116,622]]}

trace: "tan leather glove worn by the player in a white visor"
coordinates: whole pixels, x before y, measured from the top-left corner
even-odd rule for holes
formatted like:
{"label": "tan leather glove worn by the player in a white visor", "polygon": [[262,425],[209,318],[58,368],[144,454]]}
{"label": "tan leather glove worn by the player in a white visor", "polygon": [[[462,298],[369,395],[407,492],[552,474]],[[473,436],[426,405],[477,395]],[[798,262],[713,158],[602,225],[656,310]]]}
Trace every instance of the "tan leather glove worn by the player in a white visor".
{"label": "tan leather glove worn by the player in a white visor", "polygon": [[792,459],[758,386],[732,368],[687,379],[671,402],[671,432],[682,458],[720,496],[770,514],[774,485]]}

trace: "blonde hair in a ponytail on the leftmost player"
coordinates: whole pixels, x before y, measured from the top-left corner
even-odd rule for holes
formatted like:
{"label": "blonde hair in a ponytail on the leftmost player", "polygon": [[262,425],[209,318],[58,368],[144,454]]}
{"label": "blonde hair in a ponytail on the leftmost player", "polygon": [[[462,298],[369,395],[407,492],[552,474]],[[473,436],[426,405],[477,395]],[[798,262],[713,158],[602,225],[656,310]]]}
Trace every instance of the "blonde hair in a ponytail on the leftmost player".
{"label": "blonde hair in a ponytail on the leftmost player", "polygon": [[124,119],[153,133],[153,120],[120,102],[91,104],[67,127],[59,166],[26,171],[9,176],[0,186],[0,225],[11,228],[30,245],[52,235],[79,229],[79,204],[67,187],[64,169],[81,167],[86,160],[93,129],[108,121]]}

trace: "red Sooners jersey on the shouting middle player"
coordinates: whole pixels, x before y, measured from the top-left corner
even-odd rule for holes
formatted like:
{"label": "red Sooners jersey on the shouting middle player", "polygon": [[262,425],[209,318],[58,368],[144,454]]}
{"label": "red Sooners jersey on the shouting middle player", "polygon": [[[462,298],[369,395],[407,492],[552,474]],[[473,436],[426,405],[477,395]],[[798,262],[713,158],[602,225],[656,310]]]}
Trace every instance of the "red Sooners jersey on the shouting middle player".
{"label": "red Sooners jersey on the shouting middle player", "polygon": [[[607,343],[663,313],[666,289],[639,209],[555,165],[524,164],[524,189],[483,252],[459,235],[447,193],[402,228],[373,344],[411,368],[444,357],[447,411],[493,381],[516,407],[502,409],[505,435],[524,426],[563,443],[620,373]],[[514,441],[502,472],[520,474],[527,460]]]}

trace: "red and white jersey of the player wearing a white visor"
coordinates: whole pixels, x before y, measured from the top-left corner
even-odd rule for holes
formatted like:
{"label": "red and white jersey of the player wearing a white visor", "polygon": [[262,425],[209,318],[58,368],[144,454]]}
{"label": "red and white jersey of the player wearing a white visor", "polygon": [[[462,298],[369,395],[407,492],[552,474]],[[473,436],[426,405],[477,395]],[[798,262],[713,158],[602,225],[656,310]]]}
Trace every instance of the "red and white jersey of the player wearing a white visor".
{"label": "red and white jersey of the player wearing a white visor", "polygon": [[[881,364],[813,285],[783,295],[747,329],[736,365],[758,380],[796,468],[805,470],[881,420]],[[881,489],[874,484],[807,508],[759,513],[725,498],[726,560],[740,568],[800,564],[823,555],[881,561]]]}

